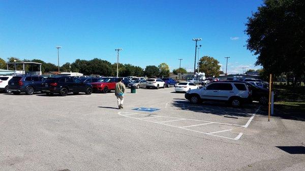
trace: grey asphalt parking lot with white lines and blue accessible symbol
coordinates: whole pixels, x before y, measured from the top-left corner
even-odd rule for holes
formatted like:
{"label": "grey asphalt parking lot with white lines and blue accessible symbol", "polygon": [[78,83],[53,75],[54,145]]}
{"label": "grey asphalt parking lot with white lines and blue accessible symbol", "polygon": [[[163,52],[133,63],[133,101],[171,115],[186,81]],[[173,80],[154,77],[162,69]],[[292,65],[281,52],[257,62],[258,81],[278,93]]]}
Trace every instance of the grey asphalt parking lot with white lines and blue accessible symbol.
{"label": "grey asphalt parking lot with white lines and blue accessible symbol", "polygon": [[1,170],[304,168],[303,154],[277,148],[304,145],[301,121],[267,122],[256,104],[191,105],[173,87],[127,91],[123,110],[113,92],[0,93]]}

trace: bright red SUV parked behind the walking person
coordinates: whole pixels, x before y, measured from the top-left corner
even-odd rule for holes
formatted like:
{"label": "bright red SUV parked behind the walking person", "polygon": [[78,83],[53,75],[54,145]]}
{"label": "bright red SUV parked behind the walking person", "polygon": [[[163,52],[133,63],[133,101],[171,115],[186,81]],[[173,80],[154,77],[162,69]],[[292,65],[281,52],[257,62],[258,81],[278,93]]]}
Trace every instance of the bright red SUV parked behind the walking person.
{"label": "bright red SUV parked behind the walking person", "polygon": [[118,82],[118,78],[104,77],[96,83],[91,83],[94,92],[107,93],[115,89],[115,84]]}

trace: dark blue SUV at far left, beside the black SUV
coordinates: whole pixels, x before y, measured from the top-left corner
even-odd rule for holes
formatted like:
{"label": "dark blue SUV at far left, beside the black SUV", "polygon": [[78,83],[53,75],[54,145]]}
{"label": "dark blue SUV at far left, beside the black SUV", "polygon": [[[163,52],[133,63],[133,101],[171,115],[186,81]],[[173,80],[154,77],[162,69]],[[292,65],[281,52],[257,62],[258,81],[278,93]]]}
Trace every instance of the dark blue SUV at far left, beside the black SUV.
{"label": "dark blue SUV at far left, beside the black SUV", "polygon": [[27,95],[32,95],[34,92],[41,91],[41,84],[45,81],[44,77],[21,75],[14,76],[8,84],[8,91],[13,94],[25,92]]}

